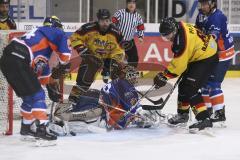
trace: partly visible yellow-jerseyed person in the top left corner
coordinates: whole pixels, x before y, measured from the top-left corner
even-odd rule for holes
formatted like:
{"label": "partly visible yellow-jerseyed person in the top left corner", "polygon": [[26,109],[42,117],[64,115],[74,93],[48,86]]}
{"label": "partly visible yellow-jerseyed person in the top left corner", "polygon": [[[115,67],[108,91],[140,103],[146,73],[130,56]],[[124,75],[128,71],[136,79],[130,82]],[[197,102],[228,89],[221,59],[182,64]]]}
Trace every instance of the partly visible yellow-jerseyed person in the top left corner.
{"label": "partly visible yellow-jerseyed person in the top left corner", "polygon": [[10,0],[0,0],[0,30],[16,29],[16,23],[9,16]]}

